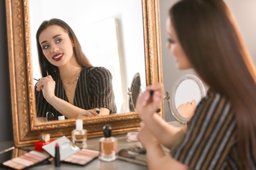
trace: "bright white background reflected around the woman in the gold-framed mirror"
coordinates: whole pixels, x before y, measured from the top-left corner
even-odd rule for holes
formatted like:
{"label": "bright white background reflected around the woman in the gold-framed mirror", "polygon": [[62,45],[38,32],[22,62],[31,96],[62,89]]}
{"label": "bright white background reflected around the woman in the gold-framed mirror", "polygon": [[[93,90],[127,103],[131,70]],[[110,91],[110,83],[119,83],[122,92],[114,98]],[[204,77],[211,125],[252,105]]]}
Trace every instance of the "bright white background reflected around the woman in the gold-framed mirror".
{"label": "bright white background reflected around the woman in the gold-framed mirror", "polygon": [[142,1],[74,0],[72,5],[70,0],[30,1],[35,79],[41,78],[35,34],[41,22],[51,18],[70,25],[91,63],[112,73],[117,113],[129,112],[127,88],[135,73],[146,87]]}

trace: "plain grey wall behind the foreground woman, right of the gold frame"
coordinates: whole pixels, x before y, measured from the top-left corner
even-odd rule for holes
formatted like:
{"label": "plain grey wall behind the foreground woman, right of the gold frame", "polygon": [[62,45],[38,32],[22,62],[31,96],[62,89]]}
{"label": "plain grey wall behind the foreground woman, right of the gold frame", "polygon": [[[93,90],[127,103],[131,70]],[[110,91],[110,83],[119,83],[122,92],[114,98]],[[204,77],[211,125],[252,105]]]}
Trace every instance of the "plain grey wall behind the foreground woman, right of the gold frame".
{"label": "plain grey wall behind the foreground woman, right of the gold frame", "polygon": [[[255,0],[245,0],[245,1],[235,1],[235,0],[224,0],[228,7],[232,10],[238,27],[244,37],[245,44],[256,63],[256,1]],[[171,52],[166,48],[165,44],[167,42],[167,31],[165,27],[165,21],[167,19],[167,12],[169,7],[173,5],[177,0],[160,0],[160,22],[161,22],[161,44],[162,44],[162,61],[163,61],[163,84],[165,86],[165,92],[171,91],[174,82],[182,75],[193,74],[194,71],[179,71],[175,65],[175,61]],[[207,87],[206,87],[207,88]],[[167,102],[164,103],[165,106],[165,120],[172,121],[175,120],[168,109]]]}

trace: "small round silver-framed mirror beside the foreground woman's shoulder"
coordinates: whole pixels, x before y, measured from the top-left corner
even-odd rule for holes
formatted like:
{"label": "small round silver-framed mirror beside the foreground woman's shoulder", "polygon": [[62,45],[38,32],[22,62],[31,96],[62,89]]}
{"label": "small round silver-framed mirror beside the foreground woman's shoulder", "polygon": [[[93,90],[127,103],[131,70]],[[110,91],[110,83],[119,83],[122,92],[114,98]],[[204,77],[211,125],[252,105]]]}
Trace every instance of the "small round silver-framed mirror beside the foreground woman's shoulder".
{"label": "small round silver-framed mirror beside the foreground woman's shoulder", "polygon": [[[184,75],[173,84],[171,97],[169,92],[166,92],[165,99],[173,117],[181,124],[186,124],[194,115],[194,109],[190,108],[192,100],[196,101],[197,106],[203,97],[205,88],[200,78],[195,75]],[[184,108],[186,104],[189,104],[189,108]],[[184,109],[181,109],[182,105]]]}

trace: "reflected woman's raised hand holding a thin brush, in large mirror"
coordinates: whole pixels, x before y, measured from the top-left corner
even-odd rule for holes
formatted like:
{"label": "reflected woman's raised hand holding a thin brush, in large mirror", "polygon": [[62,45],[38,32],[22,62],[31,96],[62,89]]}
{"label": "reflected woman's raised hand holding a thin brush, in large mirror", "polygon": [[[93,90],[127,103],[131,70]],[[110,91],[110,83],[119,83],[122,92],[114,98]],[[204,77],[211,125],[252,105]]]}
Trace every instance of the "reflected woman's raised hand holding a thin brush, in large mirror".
{"label": "reflected woman's raised hand holding a thin brush, in large mirror", "polygon": [[36,86],[37,86],[37,91],[43,90],[43,97],[45,97],[47,101],[55,97],[54,95],[55,81],[53,80],[52,76],[45,76],[43,78],[40,78]]}

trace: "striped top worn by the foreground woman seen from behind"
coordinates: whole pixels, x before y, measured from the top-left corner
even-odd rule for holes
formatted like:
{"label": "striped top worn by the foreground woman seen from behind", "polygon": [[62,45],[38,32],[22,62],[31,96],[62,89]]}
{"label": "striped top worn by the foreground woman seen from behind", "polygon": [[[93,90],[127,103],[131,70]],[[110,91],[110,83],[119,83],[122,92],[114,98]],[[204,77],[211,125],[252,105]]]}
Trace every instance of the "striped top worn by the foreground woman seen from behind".
{"label": "striped top worn by the foreground woman seen from behind", "polygon": [[[188,131],[171,148],[171,155],[190,169],[242,169],[236,144],[236,120],[230,103],[209,90],[188,123]],[[252,169],[255,165],[251,156]]]}

